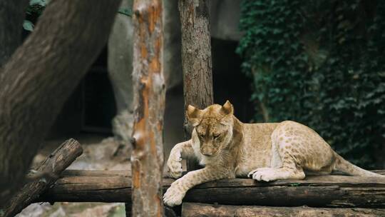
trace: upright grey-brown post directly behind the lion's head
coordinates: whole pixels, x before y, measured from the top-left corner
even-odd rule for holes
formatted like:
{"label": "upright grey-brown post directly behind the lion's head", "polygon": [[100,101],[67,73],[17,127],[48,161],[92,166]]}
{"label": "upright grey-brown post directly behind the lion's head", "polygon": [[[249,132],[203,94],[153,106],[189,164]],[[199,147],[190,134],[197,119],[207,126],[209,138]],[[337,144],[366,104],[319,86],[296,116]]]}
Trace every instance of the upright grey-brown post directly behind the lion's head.
{"label": "upright grey-brown post directly behind the lion's head", "polygon": [[[188,105],[199,109],[213,104],[212,61],[209,8],[207,0],[179,0],[182,32],[182,68],[185,109]],[[190,139],[193,128],[185,115],[185,137]],[[188,161],[188,171],[197,163]]]}

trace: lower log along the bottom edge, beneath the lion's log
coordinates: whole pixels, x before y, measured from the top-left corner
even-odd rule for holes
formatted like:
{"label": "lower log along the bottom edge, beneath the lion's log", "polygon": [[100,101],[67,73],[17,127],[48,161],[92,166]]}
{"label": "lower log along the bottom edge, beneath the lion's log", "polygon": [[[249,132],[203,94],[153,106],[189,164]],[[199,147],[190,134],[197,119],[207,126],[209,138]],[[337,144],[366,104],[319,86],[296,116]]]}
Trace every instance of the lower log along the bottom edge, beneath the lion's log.
{"label": "lower log along the bottom edge, beneath the lion's log", "polygon": [[379,208],[311,208],[311,207],[268,207],[268,206],[224,206],[204,203],[183,203],[182,216],[244,216],[244,217],[297,217],[297,216],[385,216],[385,209]]}

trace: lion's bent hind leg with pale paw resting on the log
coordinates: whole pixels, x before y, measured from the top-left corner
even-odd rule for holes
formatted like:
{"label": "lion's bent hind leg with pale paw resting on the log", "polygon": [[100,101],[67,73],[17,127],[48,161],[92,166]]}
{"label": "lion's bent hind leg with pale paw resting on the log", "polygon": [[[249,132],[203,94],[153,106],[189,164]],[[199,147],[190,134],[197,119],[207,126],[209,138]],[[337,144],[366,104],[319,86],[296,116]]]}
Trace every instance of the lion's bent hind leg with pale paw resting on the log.
{"label": "lion's bent hind leg with pale paw resting on the log", "polygon": [[305,177],[299,163],[300,153],[293,143],[273,141],[272,167],[257,168],[249,173],[257,181],[274,181],[277,179],[303,179]]}

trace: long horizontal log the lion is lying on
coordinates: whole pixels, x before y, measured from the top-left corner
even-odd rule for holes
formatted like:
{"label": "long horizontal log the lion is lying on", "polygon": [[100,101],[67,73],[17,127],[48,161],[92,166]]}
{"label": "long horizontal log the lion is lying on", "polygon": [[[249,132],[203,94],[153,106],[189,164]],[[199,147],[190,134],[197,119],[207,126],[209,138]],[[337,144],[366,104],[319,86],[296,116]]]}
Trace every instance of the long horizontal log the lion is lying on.
{"label": "long horizontal log the lion is lying on", "polygon": [[[384,174],[385,171],[377,171]],[[71,176],[76,173],[76,176]],[[66,171],[37,201],[130,203],[128,172]],[[173,179],[163,179],[163,190]],[[190,189],[184,202],[259,206],[317,206],[385,208],[385,178],[308,176],[304,180],[258,183],[248,178],[222,179]]]}

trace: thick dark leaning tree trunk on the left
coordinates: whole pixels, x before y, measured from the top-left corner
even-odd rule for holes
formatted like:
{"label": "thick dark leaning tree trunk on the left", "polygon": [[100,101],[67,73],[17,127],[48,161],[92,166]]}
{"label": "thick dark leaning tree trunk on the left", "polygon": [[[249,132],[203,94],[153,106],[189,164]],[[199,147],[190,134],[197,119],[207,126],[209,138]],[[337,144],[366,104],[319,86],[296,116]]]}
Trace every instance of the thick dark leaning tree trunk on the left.
{"label": "thick dark leaning tree trunk on the left", "polygon": [[24,182],[64,101],[106,44],[119,4],[51,1],[0,71],[0,204]]}

